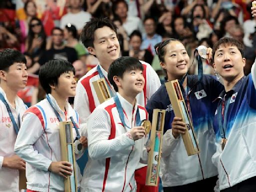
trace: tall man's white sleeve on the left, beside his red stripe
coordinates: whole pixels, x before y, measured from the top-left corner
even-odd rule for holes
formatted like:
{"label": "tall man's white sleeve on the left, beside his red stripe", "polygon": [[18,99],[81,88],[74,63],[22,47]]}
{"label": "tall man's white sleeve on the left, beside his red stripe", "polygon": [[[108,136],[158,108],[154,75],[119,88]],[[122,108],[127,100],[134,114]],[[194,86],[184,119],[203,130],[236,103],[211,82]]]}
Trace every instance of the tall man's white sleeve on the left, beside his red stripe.
{"label": "tall man's white sleeve on the left, beside his red stripe", "polygon": [[90,115],[89,100],[87,92],[80,81],[78,81],[76,86],[74,110],[78,112],[80,117],[81,136],[87,137],[86,123],[88,116]]}

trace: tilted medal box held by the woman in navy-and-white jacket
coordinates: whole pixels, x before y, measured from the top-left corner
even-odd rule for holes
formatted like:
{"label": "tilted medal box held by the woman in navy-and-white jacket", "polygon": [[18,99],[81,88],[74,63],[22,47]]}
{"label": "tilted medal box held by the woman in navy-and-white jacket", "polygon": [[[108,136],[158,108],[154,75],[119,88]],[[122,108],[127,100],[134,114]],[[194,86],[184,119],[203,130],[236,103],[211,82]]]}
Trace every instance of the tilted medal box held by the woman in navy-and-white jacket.
{"label": "tilted medal box held by the woman in navy-and-white jacket", "polygon": [[189,117],[179,82],[177,79],[165,82],[165,87],[175,116],[181,117],[182,121],[186,123],[185,134],[181,134],[186,148],[186,153],[188,156],[197,154],[200,152],[198,142],[194,134],[193,124]]}

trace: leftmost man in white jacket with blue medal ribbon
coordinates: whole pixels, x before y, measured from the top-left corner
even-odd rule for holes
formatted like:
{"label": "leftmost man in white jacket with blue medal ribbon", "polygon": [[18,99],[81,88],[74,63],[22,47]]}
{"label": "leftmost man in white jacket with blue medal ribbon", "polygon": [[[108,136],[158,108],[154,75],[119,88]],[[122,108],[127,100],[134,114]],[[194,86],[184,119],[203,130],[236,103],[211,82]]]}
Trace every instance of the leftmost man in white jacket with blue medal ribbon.
{"label": "leftmost man in white jacket with blue medal ribbon", "polygon": [[0,191],[19,191],[19,170],[25,161],[14,152],[14,143],[26,105],[17,91],[26,86],[26,59],[14,49],[0,52]]}

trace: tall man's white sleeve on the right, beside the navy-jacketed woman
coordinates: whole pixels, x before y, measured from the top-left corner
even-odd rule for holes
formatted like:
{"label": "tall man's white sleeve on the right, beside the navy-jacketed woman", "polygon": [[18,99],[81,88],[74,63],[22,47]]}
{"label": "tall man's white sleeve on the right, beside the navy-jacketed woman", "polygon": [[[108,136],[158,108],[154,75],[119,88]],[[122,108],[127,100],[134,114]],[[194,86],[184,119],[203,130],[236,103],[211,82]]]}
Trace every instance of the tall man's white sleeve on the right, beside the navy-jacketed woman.
{"label": "tall man's white sleeve on the right, beside the navy-jacketed woman", "polygon": [[149,100],[153,93],[161,86],[160,79],[151,65],[146,66],[146,98]]}

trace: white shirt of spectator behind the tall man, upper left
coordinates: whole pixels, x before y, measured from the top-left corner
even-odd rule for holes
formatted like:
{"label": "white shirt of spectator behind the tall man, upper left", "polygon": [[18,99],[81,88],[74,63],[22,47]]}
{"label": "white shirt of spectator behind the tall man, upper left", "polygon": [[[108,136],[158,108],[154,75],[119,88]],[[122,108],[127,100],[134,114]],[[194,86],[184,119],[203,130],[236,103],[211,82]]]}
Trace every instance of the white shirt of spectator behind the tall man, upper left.
{"label": "white shirt of spectator behind the tall man, upper left", "polygon": [[78,13],[67,13],[60,19],[60,28],[64,28],[67,23],[73,24],[77,30],[82,29],[85,22],[88,22],[91,18],[91,14],[81,10]]}

